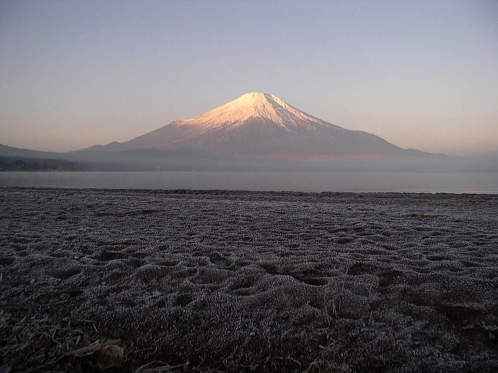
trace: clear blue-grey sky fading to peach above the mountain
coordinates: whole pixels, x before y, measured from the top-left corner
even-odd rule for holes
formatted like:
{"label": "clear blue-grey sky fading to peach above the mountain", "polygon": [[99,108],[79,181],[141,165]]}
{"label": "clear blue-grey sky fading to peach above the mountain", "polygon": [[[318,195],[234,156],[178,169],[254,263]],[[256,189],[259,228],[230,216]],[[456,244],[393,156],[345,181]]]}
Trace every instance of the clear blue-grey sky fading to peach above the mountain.
{"label": "clear blue-grey sky fading to peach above the mountain", "polygon": [[498,1],[0,1],[0,143],[129,140],[249,91],[403,148],[498,152]]}

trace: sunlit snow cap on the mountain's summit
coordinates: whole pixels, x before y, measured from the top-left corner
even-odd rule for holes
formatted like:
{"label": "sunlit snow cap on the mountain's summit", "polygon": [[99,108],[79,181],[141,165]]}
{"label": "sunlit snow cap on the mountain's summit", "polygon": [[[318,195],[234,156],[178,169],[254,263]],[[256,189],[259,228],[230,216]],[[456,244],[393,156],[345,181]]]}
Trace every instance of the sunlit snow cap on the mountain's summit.
{"label": "sunlit snow cap on the mountain's summit", "polygon": [[251,92],[192,119],[173,122],[177,126],[204,129],[233,128],[247,122],[278,124],[287,131],[296,128],[331,126],[327,122],[296,109],[270,93]]}

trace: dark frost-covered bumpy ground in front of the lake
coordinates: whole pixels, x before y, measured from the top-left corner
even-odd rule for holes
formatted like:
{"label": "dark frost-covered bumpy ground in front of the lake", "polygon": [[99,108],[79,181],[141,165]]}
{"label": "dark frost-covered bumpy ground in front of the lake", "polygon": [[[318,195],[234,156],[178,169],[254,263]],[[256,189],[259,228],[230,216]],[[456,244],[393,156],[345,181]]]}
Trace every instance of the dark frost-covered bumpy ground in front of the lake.
{"label": "dark frost-covered bumpy ground in front of the lake", "polygon": [[4,188],[0,250],[14,372],[498,369],[498,195]]}

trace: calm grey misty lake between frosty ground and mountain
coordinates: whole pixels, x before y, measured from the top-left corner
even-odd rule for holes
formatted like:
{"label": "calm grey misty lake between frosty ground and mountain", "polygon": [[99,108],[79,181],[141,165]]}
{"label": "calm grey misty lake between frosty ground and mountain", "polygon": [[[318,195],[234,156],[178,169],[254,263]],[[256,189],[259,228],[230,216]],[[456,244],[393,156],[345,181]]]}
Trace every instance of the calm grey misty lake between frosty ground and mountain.
{"label": "calm grey misty lake between frosty ground and mountain", "polygon": [[0,186],[498,193],[496,172],[0,172]]}

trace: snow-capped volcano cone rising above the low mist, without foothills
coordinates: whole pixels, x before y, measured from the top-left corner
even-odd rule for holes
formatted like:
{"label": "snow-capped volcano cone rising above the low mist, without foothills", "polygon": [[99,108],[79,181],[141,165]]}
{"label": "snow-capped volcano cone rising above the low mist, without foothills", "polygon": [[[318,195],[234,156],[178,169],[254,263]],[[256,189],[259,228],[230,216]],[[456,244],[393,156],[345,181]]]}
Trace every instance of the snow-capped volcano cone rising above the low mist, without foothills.
{"label": "snow-capped volcano cone rising above the low mist, without foothills", "polygon": [[192,119],[178,120],[124,143],[88,150],[169,150],[270,159],[369,159],[428,155],[364,131],[313,117],[270,93],[251,92]]}

